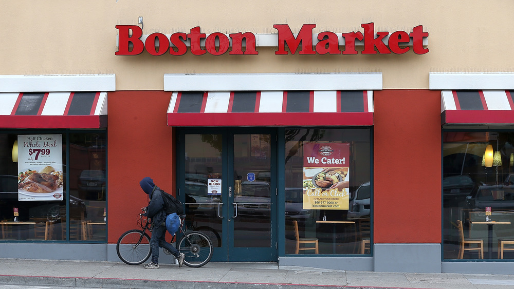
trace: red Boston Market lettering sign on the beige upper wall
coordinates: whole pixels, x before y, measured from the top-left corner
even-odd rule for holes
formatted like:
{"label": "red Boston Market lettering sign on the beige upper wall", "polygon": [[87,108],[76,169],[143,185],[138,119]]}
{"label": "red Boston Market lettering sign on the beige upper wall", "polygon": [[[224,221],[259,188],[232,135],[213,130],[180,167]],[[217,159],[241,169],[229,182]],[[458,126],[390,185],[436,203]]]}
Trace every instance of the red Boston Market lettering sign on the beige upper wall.
{"label": "red Boston Market lettering sign on the beige upper wall", "polygon": [[[428,48],[424,47],[424,38],[428,32],[423,31],[423,25],[412,28],[409,33],[406,31],[379,31],[375,32],[374,23],[362,24],[361,31],[337,34],[325,31],[313,34],[316,24],[304,24],[298,34],[293,34],[289,25],[275,24],[273,28],[278,30],[276,37],[278,42],[274,43],[278,50],[277,55],[288,53],[295,54],[358,54],[357,46],[362,46],[361,54],[403,54],[412,49],[416,54],[425,54]],[[194,55],[206,53],[212,55],[256,55],[259,45],[259,37],[251,32],[238,32],[224,34],[221,32],[206,35],[201,33],[200,27],[191,28],[189,33],[177,32],[171,35],[155,32],[150,35],[143,35],[142,29],[136,25],[116,25],[119,30],[118,51],[116,55],[138,55],[144,50],[151,55],[184,55],[190,52]],[[258,36],[263,34],[258,34]],[[286,50],[286,46],[288,50]],[[243,48],[244,47],[244,48]],[[341,50],[340,47],[343,47]],[[232,48],[232,49],[230,49]]]}

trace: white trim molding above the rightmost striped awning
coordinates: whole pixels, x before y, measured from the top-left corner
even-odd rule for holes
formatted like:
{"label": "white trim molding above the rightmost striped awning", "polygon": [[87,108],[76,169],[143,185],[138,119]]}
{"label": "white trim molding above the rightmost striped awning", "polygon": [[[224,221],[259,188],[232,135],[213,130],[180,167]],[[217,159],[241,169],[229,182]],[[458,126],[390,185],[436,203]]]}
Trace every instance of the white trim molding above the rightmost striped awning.
{"label": "white trim molding above the rightmost striped awning", "polygon": [[430,72],[430,89],[514,89],[512,72]]}

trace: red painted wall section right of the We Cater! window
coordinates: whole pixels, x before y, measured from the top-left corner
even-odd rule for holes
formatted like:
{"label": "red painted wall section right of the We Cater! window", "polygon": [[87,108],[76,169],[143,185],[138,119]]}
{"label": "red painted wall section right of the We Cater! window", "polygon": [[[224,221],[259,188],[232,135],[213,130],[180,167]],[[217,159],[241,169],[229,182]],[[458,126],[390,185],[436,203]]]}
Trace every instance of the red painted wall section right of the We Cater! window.
{"label": "red painted wall section right of the We Cater! window", "polygon": [[374,242],[441,242],[440,91],[374,91]]}

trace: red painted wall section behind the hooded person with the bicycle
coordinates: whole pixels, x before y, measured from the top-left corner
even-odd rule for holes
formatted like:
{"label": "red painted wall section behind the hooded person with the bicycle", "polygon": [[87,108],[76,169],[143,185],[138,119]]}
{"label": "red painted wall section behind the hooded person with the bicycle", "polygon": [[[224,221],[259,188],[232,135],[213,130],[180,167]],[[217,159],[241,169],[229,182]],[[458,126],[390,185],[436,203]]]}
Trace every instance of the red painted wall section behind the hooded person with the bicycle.
{"label": "red painted wall section behind the hooded person with the bicycle", "polygon": [[140,208],[148,204],[139,186],[142,178],[151,177],[157,186],[174,191],[174,141],[166,124],[170,98],[166,91],[109,92],[108,243],[137,228]]}

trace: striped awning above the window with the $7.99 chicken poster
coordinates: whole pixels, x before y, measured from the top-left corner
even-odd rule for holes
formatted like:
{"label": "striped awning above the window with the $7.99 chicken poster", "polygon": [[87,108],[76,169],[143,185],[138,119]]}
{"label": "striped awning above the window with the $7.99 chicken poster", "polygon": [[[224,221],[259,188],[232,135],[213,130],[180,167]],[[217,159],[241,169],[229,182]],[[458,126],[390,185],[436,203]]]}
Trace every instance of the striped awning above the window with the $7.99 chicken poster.
{"label": "striped awning above the window with the $7.99 chicken poster", "polygon": [[2,128],[102,128],[107,92],[1,92]]}

